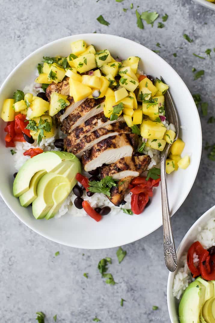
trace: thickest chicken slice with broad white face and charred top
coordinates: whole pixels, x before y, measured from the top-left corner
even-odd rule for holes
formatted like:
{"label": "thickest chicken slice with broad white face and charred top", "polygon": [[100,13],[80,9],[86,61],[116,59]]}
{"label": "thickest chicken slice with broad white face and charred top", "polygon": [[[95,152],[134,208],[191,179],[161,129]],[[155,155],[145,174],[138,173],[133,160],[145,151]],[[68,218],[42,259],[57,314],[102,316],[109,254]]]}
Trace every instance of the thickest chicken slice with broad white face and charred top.
{"label": "thickest chicken slice with broad white face and charred top", "polygon": [[138,135],[119,134],[108,137],[88,149],[82,155],[82,164],[86,172],[92,171],[105,164],[112,164],[120,158],[131,156],[133,149],[138,146]]}

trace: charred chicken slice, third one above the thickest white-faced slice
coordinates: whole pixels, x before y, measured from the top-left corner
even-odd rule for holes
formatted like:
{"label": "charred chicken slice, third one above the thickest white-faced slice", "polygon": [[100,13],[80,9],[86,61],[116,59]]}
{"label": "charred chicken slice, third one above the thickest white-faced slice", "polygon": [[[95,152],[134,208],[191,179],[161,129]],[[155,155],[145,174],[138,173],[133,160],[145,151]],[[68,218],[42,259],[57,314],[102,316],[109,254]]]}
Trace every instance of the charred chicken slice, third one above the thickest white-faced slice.
{"label": "charred chicken slice, third one above the thickest white-faced slice", "polygon": [[104,98],[86,99],[78,108],[62,121],[61,130],[68,134],[83,122],[103,111]]}

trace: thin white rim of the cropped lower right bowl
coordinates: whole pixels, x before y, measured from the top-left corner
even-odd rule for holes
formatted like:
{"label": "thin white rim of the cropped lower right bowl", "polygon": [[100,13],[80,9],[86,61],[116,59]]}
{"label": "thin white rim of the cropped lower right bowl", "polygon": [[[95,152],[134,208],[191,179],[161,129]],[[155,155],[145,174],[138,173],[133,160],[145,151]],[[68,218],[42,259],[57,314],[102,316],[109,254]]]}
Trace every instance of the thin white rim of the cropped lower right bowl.
{"label": "thin white rim of the cropped lower right bowl", "polygon": [[[207,217],[207,215],[211,214],[213,211],[215,211],[215,205],[211,206],[210,209],[208,209],[205,213],[203,213],[195,222],[194,224],[191,225],[191,227],[189,228],[189,230],[187,231],[187,233],[184,235],[183,239],[181,240],[178,249],[176,251],[177,255],[180,255],[180,257],[184,254],[184,245],[185,242],[187,240],[187,238],[189,237],[189,234],[191,234],[191,232],[193,230],[195,230],[200,224],[205,225],[203,219],[205,217]],[[179,259],[179,258],[178,258]],[[175,317],[173,315],[173,307],[171,306],[171,299],[173,297],[172,295],[172,284],[176,275],[176,272],[169,272],[168,275],[168,280],[167,280],[167,307],[168,307],[168,312],[169,312],[169,317],[171,320],[171,323],[175,323]],[[178,320],[179,322],[179,320]]]}

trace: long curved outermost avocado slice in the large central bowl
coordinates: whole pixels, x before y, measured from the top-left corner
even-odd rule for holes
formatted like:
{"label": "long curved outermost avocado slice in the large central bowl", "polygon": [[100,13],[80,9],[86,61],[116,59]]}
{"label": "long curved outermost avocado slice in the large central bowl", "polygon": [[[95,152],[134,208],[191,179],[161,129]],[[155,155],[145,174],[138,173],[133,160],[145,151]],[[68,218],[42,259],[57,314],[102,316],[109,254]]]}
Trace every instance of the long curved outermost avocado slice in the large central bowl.
{"label": "long curved outermost avocado slice in the large central bowl", "polygon": [[14,196],[19,197],[29,190],[30,181],[36,172],[42,170],[46,172],[56,171],[61,166],[61,163],[66,160],[75,161],[80,164],[75,155],[64,151],[46,151],[28,159],[15,177],[13,185]]}

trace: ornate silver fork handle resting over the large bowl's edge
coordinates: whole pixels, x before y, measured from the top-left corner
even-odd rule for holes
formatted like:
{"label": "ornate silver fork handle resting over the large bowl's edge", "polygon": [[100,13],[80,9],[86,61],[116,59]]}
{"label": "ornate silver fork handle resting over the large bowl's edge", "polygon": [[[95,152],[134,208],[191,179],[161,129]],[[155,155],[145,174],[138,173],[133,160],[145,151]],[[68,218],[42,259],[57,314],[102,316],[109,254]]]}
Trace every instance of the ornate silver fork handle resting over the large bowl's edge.
{"label": "ornate silver fork handle resting over the large bowl's edge", "polygon": [[161,177],[161,202],[163,216],[163,250],[164,260],[169,271],[174,272],[178,266],[178,259],[175,250],[175,243],[172,234],[172,225],[169,214],[169,200],[167,193],[166,158],[161,156],[160,160]]}

